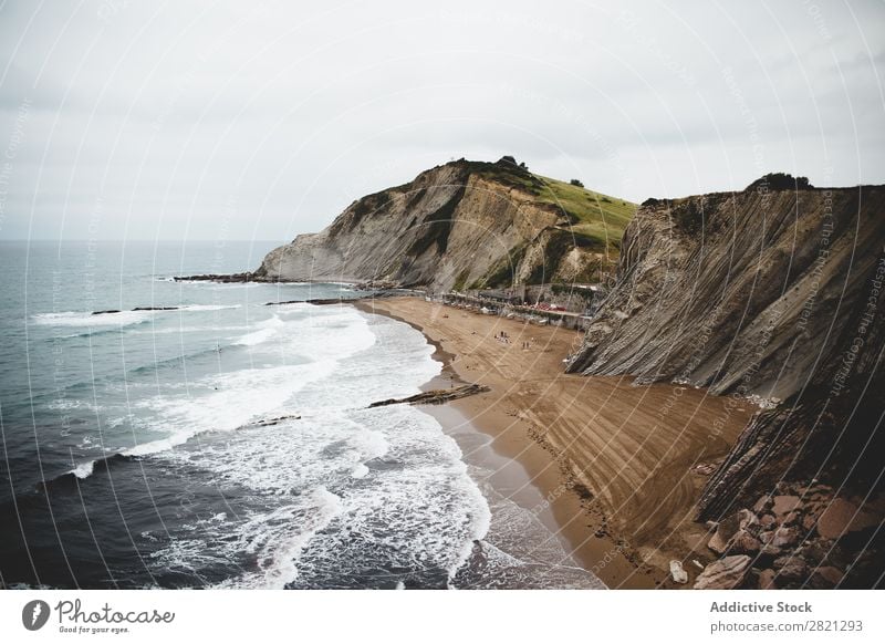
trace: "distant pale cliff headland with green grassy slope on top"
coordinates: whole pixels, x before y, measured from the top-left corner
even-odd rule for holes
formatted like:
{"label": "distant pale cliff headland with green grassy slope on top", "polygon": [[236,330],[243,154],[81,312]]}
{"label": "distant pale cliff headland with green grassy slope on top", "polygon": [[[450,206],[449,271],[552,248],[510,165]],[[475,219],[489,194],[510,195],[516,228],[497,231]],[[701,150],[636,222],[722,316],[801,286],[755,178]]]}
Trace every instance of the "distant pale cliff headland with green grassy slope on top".
{"label": "distant pale cliff headland with green grassy slope on top", "polygon": [[354,201],[323,231],[271,251],[250,277],[435,290],[598,281],[634,209],[511,157],[461,159]]}

